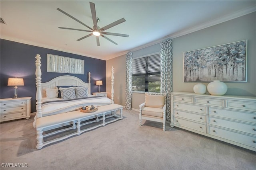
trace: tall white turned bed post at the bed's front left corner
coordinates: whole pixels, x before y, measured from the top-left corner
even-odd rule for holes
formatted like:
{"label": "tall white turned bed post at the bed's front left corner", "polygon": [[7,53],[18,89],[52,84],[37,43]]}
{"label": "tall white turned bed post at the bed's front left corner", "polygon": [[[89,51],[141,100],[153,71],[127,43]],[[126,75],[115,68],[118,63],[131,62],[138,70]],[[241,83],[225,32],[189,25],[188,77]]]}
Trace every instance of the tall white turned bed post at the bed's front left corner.
{"label": "tall white turned bed post at the bed's front left corner", "polygon": [[41,93],[41,57],[39,54],[36,55],[36,115],[34,117],[34,128],[36,127],[36,119],[42,117],[42,109],[41,109],[41,100],[42,100],[42,93]]}

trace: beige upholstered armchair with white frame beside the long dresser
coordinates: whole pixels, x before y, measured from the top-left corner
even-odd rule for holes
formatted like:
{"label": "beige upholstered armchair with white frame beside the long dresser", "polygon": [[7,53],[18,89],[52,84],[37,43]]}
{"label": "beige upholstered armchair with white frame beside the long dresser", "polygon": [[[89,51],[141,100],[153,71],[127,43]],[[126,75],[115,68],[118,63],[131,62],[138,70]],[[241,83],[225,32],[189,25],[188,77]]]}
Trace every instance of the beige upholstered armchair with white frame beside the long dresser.
{"label": "beige upholstered armchair with white frame beside the long dresser", "polygon": [[145,102],[140,104],[139,121],[150,120],[163,123],[165,131],[166,120],[166,95],[159,93],[145,93]]}

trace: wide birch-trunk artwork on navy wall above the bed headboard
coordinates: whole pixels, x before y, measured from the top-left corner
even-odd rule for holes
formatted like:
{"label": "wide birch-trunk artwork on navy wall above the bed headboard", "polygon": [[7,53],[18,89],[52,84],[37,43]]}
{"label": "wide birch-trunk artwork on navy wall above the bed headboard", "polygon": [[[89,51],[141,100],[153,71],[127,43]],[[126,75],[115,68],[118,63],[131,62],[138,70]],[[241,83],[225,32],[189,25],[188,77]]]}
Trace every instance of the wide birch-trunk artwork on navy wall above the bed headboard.
{"label": "wide birch-trunk artwork on navy wall above the bed headboard", "polygon": [[84,60],[47,54],[47,72],[84,74]]}

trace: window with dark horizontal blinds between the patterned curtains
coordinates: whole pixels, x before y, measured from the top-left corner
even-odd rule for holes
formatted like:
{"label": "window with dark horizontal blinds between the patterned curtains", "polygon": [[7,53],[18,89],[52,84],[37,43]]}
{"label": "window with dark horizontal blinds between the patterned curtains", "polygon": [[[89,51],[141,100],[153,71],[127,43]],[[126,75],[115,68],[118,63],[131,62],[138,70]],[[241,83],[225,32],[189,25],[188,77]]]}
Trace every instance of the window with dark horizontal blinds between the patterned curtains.
{"label": "window with dark horizontal blinds between the patterned curtains", "polygon": [[160,87],[160,54],[133,59],[132,91],[160,93]]}

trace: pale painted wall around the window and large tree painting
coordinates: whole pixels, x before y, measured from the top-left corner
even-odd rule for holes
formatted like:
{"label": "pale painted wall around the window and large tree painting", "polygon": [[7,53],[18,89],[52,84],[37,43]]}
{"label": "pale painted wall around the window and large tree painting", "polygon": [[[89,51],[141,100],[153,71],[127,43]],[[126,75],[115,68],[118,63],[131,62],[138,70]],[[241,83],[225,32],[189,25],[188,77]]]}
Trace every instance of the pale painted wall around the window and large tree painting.
{"label": "pale painted wall around the window and large tree painting", "polygon": [[[248,40],[247,82],[228,82],[228,95],[256,96],[256,12],[242,16],[194,33],[172,39],[173,45],[173,91],[193,92],[196,83],[183,82],[183,53],[241,40]],[[160,51],[160,44],[134,51],[139,57]],[[114,66],[114,102],[125,105],[125,55],[108,60],[107,92],[110,94],[110,68]],[[208,83],[204,83],[208,84]],[[117,99],[117,96],[119,99]],[[139,109],[144,94],[132,94],[132,108]]]}

